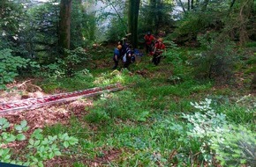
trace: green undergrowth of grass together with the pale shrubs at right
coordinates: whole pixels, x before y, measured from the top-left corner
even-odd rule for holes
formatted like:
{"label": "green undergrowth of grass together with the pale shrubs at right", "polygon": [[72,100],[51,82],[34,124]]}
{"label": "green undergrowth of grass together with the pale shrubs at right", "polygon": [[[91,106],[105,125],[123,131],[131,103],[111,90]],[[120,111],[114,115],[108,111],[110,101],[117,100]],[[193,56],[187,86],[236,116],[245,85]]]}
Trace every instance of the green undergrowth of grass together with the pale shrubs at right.
{"label": "green undergrowth of grass together with the pale shrubs at right", "polygon": [[[73,116],[68,125],[45,127],[43,134],[67,133],[78,139],[76,147],[70,146],[73,166],[255,165],[255,97],[194,79],[185,53],[177,49],[157,67],[143,57],[130,69],[94,74],[85,69],[72,78],[45,80],[42,85],[49,92],[116,83],[126,87],[102,93],[85,108],[87,115]],[[113,150],[118,155],[111,155]]]}

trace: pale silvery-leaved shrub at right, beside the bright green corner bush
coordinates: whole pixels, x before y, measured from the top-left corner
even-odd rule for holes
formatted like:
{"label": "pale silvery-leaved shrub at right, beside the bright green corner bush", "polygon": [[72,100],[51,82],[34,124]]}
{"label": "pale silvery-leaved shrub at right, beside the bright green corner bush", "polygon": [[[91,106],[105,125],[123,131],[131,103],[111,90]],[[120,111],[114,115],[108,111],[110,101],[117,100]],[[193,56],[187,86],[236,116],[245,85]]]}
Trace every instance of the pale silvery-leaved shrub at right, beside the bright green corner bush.
{"label": "pale silvery-leaved shrub at right, beside the bright green corner bush", "polygon": [[201,113],[183,114],[183,118],[189,121],[187,124],[187,135],[200,142],[200,151],[204,160],[208,163],[212,163],[214,158],[211,153],[209,140],[215,134],[222,134],[222,127],[227,124],[226,115],[215,113],[215,110],[210,106],[211,103],[212,100],[207,98],[205,101],[200,101],[200,103],[191,103]]}

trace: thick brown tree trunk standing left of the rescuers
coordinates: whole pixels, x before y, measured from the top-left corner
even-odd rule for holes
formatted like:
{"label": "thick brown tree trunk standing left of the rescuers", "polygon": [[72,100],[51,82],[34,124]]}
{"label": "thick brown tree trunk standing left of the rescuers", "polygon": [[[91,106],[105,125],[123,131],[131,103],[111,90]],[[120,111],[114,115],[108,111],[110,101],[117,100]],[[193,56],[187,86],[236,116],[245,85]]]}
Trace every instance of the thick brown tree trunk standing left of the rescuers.
{"label": "thick brown tree trunk standing left of the rescuers", "polygon": [[72,0],[61,0],[60,22],[59,22],[59,42],[60,47],[70,49],[71,44],[71,13]]}

